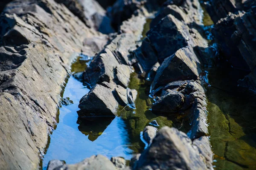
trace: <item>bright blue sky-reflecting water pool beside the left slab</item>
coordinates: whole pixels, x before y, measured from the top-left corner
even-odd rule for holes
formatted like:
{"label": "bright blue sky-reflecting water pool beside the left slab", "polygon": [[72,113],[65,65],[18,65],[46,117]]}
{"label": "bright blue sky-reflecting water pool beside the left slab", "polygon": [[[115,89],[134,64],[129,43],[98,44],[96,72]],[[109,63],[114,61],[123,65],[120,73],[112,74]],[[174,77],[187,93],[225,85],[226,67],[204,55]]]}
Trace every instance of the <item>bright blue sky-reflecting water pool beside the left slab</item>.
{"label": "bright blue sky-reflecting water pool beside the left slab", "polygon": [[[87,136],[84,132],[80,131],[84,128],[79,130],[79,124],[77,124],[78,114],[76,111],[79,111],[79,100],[88,92],[89,89],[73,76],[68,79],[63,98],[69,97],[73,104],[63,105],[59,110],[59,123],[56,130],[50,136],[49,148],[43,158],[43,170],[47,169],[47,164],[52,159],[64,160],[67,164],[74,164],[97,154],[107,156],[109,159],[112,156],[122,156],[125,159],[131,159],[133,151],[128,148],[130,143],[128,130],[125,129],[126,124],[122,118],[106,118],[108,120],[104,122],[102,122],[103,120],[83,122],[85,126],[87,124],[89,126],[85,127],[85,130],[92,128],[93,133],[99,131],[98,136],[93,137],[92,135],[89,139],[90,130],[85,132]],[[102,126],[105,126],[106,129]]]}

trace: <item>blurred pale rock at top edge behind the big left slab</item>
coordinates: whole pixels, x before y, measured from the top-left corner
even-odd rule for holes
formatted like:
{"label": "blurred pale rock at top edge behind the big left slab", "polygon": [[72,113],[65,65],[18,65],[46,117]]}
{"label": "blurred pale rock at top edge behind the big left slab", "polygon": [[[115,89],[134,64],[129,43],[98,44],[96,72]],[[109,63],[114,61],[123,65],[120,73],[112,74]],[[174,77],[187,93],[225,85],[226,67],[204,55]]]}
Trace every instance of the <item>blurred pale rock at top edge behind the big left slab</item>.
{"label": "blurred pale rock at top edge behind the big left slab", "polygon": [[111,20],[106,11],[96,0],[55,0],[63,3],[73,14],[79,17],[88,27],[95,28],[103,34],[113,33]]}

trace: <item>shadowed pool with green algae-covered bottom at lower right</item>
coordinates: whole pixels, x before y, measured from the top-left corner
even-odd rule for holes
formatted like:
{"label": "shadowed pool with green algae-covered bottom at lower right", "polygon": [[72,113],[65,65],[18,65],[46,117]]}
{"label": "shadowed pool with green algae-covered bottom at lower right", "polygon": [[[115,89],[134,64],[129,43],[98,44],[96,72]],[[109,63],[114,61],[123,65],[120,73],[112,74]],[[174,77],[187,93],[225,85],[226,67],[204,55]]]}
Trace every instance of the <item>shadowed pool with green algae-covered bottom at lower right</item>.
{"label": "shadowed pool with green algae-covered bottom at lower right", "polygon": [[256,97],[236,86],[243,76],[227,66],[209,70],[207,109],[216,170],[256,168]]}

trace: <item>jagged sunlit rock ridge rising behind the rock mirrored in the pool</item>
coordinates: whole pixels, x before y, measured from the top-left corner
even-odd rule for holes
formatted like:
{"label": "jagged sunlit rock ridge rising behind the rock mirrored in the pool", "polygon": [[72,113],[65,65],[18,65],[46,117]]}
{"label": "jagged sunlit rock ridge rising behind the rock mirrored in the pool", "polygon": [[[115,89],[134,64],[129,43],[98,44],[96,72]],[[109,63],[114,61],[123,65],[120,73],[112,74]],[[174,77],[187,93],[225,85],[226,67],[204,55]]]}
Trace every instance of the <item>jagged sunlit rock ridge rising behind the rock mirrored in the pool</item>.
{"label": "jagged sunlit rock ridge rising behind the rock mirrored in the pool", "polygon": [[[135,17],[135,16],[134,16]],[[145,17],[137,16],[123,23],[120,30],[130,30],[126,33],[117,35],[104,51],[101,51],[90,63],[84,72],[84,81],[90,83],[91,86],[101,82],[116,82],[123,87],[128,86],[132,68],[129,49],[134,48],[136,41],[140,39],[139,35],[143,31]],[[144,22],[143,22],[144,20]],[[140,24],[137,24],[140,21]],[[137,24],[134,27],[129,25]]]}

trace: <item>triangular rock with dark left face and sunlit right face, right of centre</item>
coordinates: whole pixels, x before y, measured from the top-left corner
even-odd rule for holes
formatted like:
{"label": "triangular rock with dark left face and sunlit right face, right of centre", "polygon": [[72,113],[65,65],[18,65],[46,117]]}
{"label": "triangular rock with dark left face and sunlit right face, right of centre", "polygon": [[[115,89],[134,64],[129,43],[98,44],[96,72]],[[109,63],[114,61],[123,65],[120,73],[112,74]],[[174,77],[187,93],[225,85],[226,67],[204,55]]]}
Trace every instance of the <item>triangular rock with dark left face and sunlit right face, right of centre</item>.
{"label": "triangular rock with dark left face and sunlit right face, right of centre", "polygon": [[195,53],[189,47],[181,48],[160,65],[152,82],[152,90],[177,80],[196,80],[200,74],[200,61]]}

